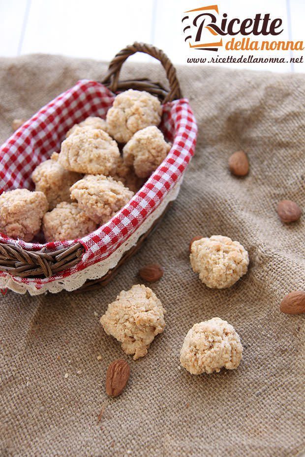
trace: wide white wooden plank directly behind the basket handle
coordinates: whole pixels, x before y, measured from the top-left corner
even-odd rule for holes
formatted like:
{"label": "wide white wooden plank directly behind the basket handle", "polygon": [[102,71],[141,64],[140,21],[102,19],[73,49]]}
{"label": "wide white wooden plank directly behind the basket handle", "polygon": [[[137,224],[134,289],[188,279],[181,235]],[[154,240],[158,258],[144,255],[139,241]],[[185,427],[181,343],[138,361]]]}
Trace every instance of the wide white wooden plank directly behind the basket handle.
{"label": "wide white wooden plank directly behind the basket handle", "polygon": [[110,60],[127,44],[151,41],[152,8],[153,0],[31,0],[22,54]]}

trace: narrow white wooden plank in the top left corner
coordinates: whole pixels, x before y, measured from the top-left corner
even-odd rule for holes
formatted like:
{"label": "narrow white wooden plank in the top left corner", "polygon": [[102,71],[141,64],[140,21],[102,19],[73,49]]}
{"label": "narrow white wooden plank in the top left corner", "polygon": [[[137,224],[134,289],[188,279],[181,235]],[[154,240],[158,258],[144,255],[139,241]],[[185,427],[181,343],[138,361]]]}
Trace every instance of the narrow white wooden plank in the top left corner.
{"label": "narrow white wooden plank in the top left corner", "polygon": [[27,0],[0,1],[0,56],[18,55]]}

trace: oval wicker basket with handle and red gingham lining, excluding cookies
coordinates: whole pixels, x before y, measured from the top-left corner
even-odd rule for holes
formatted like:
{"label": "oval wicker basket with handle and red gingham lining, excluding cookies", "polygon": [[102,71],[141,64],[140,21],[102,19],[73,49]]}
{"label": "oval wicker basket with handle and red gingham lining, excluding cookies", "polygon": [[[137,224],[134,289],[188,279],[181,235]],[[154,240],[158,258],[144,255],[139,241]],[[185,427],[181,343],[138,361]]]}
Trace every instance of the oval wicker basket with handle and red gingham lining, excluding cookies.
{"label": "oval wicker basket with handle and red gingham lining, excluding cookies", "polygon": [[[169,90],[148,79],[119,81],[122,63],[136,52],[149,54],[161,62],[169,81]],[[124,207],[109,223],[81,240],[42,245],[0,236],[0,287],[19,293],[28,290],[31,294],[39,294],[48,290],[57,292],[61,289],[84,290],[105,286],[122,263],[140,248],[171,201],[175,200],[184,169],[194,151],[196,123],[187,100],[179,100],[180,86],[168,57],[155,47],[142,43],[134,43],[118,53],[101,84],[80,81],[42,108],[1,146],[1,191],[16,187],[32,188],[32,170],[47,159],[52,150],[59,150],[68,128],[88,115],[105,115],[114,94],[129,88],[146,90],[162,101],[161,128],[165,136],[174,141],[168,157],[126,205],[129,213]],[[178,100],[181,105],[171,105],[173,100]],[[48,126],[54,126],[54,130],[49,128],[45,132],[47,121]],[[180,135],[177,136],[177,132]],[[38,151],[37,157],[33,157],[32,151]],[[18,157],[22,157],[22,161]],[[168,175],[170,179],[166,181],[164,176]],[[163,183],[163,190],[158,183]],[[155,192],[152,207],[144,210],[145,205],[142,208],[141,203],[147,203],[147,196],[152,192]],[[131,220],[130,214],[140,206],[139,215]],[[118,235],[118,227],[122,228],[126,217],[132,222],[132,227],[128,228],[128,222]]]}

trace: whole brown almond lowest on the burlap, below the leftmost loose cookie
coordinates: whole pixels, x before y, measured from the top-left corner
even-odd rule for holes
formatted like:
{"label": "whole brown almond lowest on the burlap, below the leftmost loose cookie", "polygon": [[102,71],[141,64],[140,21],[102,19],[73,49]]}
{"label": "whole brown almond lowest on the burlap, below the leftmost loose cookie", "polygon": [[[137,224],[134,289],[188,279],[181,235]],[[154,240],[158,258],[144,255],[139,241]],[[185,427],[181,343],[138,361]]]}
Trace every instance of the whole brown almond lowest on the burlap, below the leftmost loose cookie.
{"label": "whole brown almond lowest on the burlap, below the leftmost loose cookie", "polygon": [[106,374],[106,392],[110,397],[122,394],[129,379],[130,367],[123,359],[114,360]]}

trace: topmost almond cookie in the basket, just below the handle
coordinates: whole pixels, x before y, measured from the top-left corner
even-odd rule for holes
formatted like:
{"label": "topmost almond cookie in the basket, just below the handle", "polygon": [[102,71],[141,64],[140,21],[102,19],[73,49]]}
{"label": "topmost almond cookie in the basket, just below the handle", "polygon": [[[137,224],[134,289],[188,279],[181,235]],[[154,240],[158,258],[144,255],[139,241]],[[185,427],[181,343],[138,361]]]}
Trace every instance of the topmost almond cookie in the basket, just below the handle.
{"label": "topmost almond cookie in the basket, just below the handle", "polygon": [[107,131],[119,143],[127,143],[138,130],[159,125],[161,114],[156,97],[144,90],[129,89],[117,95],[108,110]]}

